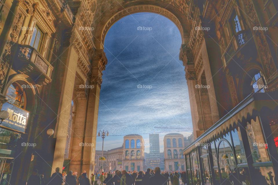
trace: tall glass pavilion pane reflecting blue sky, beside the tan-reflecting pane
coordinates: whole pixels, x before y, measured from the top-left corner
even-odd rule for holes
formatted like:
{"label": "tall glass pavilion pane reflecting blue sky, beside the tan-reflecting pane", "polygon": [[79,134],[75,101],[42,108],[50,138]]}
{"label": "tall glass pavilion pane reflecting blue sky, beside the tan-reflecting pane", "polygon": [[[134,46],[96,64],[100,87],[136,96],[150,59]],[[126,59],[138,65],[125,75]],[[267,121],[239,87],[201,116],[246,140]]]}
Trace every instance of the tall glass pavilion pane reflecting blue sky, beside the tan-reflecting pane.
{"label": "tall glass pavilion pane reflecting blue sky, beside the tan-reflecting pane", "polygon": [[237,163],[238,164],[247,163],[239,127],[237,127],[235,130],[232,131],[232,137],[233,137],[235,153],[237,157]]}

